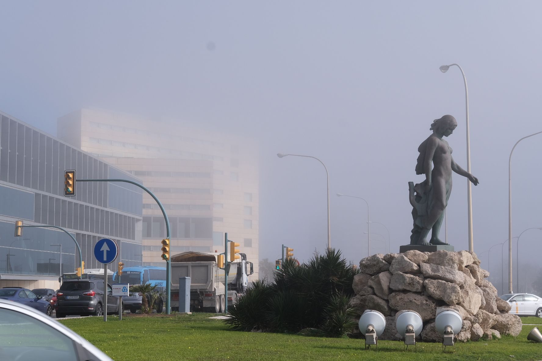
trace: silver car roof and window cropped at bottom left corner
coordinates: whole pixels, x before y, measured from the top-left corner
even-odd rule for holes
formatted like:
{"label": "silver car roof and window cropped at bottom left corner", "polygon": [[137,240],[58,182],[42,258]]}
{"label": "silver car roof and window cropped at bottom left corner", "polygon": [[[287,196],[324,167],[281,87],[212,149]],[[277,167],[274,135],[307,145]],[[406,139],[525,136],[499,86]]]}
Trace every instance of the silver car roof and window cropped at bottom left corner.
{"label": "silver car roof and window cropped at bottom left corner", "polygon": [[113,361],[68,327],[21,303],[0,299],[2,329],[9,332],[0,337],[0,360]]}

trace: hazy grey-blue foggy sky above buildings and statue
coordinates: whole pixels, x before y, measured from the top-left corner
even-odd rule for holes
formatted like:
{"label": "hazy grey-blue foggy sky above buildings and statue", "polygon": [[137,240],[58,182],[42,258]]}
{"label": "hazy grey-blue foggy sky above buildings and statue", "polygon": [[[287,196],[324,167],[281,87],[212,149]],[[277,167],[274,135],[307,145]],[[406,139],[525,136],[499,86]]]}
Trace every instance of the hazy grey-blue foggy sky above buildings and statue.
{"label": "hazy grey-blue foggy sky above buildings and statue", "polygon": [[[5,113],[56,134],[57,117],[92,106],[259,140],[260,258],[286,244],[306,260],[327,244],[324,168],[278,152],[328,167],[332,246],[349,260],[367,255],[366,206],[335,193],[369,201],[393,252],[408,244],[408,181],[423,180],[417,147],[434,119],[456,117],[447,140],[466,168],[463,80],[456,67],[438,70],[458,63],[480,180],[475,252],[508,237],[508,155],[542,130],[540,2],[27,1],[0,12]],[[542,134],[514,150],[513,235],[542,227],[541,151]],[[466,179],[456,174],[448,239],[468,249]],[[541,240],[536,229],[522,235],[521,257],[539,259]]]}

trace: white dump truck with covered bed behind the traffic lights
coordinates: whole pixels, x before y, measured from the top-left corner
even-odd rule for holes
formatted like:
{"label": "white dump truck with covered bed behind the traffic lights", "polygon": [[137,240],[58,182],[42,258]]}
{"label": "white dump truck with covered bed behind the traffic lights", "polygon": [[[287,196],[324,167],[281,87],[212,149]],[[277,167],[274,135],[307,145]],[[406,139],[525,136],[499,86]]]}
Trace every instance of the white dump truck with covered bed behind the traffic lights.
{"label": "white dump truck with covered bed behind the traffic lights", "polygon": [[179,278],[190,277],[190,311],[224,312],[225,303],[235,305],[247,290],[254,265],[247,255],[228,262],[228,299],[225,299],[225,272],[218,268],[218,253],[183,252],[171,256],[171,310],[179,310]]}

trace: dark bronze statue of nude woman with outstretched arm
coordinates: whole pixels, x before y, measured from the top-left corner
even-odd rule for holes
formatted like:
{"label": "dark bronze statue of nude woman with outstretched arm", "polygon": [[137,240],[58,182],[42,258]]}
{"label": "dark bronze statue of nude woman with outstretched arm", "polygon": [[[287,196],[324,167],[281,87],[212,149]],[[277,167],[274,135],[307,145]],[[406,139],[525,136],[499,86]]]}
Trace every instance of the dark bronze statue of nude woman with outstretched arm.
{"label": "dark bronze statue of nude woman with outstretched arm", "polygon": [[[414,185],[409,182],[410,204],[414,228],[410,236],[411,245],[446,245],[438,238],[438,233],[444,218],[444,209],[448,205],[451,192],[451,172],[467,177],[473,184],[478,185],[478,178],[468,173],[454,162],[451,148],[443,136],[449,136],[457,127],[455,118],[444,115],[431,124],[433,130],[427,139],[418,147],[416,174],[425,174],[425,180]],[[433,169],[431,169],[433,166]],[[429,231],[431,239],[427,241]]]}

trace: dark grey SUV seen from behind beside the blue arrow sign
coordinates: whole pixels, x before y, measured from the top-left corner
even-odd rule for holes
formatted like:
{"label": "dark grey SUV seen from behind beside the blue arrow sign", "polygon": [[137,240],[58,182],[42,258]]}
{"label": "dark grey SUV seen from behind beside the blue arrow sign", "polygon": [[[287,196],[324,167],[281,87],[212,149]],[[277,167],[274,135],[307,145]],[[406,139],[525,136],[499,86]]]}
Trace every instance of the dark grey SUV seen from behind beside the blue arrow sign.
{"label": "dark grey SUV seen from behind beside the blue arrow sign", "polygon": [[[119,312],[119,298],[113,297],[111,285],[104,287],[104,280],[66,280],[56,293],[56,317],[67,314],[102,316],[104,314],[104,291],[107,292],[107,313]],[[120,301],[122,307],[122,301]]]}

